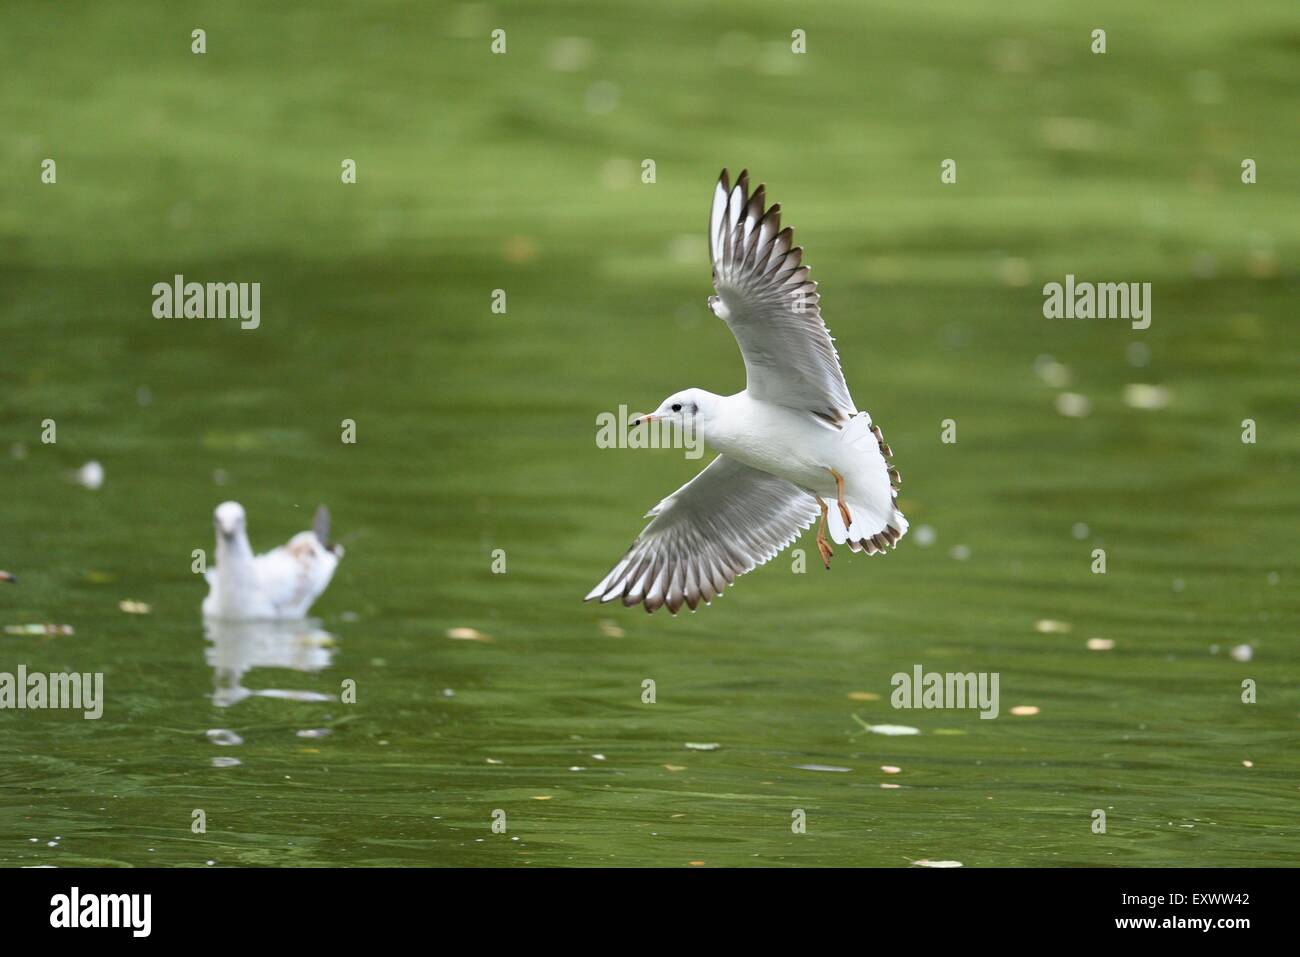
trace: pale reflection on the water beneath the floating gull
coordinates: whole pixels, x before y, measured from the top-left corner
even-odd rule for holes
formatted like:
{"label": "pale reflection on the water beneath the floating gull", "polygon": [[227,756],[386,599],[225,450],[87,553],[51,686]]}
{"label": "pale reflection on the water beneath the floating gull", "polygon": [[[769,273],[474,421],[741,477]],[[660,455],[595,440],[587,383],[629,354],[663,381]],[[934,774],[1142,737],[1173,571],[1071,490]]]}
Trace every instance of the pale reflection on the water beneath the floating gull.
{"label": "pale reflection on the water beneath the floating gull", "polygon": [[334,658],[334,636],[316,619],[300,622],[221,622],[205,619],[203,631],[211,642],[205,650],[213,672],[212,703],[229,707],[247,697],[289,701],[334,701],[332,694],[278,688],[250,689],[244,675],[254,668],[286,668],[317,672]]}

